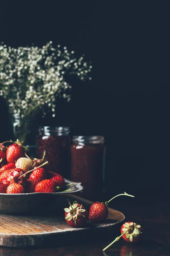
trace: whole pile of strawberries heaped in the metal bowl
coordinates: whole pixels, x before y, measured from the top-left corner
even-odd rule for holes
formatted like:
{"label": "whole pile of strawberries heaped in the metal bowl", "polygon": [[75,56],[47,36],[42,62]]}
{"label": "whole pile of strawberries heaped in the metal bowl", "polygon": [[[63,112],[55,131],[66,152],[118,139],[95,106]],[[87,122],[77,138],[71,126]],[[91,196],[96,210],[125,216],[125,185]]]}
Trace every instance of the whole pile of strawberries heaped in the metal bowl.
{"label": "whole pile of strawberries heaped in the metal bowl", "polygon": [[53,193],[65,187],[62,175],[45,170],[45,154],[32,160],[18,140],[8,147],[5,143],[0,143],[0,193]]}

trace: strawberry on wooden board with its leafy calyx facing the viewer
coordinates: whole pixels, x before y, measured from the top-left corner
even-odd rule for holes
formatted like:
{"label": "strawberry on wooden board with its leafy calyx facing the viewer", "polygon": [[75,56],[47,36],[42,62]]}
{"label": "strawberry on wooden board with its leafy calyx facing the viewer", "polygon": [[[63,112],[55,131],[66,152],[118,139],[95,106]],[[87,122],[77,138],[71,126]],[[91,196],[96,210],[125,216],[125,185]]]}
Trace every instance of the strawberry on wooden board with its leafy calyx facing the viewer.
{"label": "strawberry on wooden board with its leafy calyx facing the viewer", "polygon": [[[70,202],[68,201],[70,204]],[[69,208],[65,208],[65,221],[71,227],[82,227],[88,220],[88,212],[81,204],[74,201]]]}

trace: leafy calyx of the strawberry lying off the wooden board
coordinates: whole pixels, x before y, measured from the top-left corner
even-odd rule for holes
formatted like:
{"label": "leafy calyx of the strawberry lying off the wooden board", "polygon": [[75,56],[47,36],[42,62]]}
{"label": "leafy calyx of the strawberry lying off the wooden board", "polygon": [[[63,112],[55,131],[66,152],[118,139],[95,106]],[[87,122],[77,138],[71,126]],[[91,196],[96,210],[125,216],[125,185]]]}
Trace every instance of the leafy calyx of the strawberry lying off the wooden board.
{"label": "leafy calyx of the strawberry lying off the wooden board", "polygon": [[[130,229],[131,227],[131,229]],[[126,238],[130,240],[130,242],[133,241],[133,236],[134,237],[138,237],[140,233],[142,233],[140,231],[141,225],[137,225],[135,222],[126,222],[124,224],[124,227],[122,228],[122,231],[124,231],[126,234]]]}

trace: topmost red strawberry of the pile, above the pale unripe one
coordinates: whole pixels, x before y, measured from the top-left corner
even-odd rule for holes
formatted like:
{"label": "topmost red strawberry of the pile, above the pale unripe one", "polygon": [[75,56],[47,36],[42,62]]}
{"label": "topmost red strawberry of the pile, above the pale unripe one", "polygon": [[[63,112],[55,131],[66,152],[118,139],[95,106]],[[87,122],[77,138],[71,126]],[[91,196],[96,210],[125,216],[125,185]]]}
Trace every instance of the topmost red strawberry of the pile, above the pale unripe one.
{"label": "topmost red strawberry of the pile, above the pale unripe one", "polygon": [[6,150],[6,160],[8,163],[15,163],[20,157],[25,156],[25,149],[20,142],[9,145]]}

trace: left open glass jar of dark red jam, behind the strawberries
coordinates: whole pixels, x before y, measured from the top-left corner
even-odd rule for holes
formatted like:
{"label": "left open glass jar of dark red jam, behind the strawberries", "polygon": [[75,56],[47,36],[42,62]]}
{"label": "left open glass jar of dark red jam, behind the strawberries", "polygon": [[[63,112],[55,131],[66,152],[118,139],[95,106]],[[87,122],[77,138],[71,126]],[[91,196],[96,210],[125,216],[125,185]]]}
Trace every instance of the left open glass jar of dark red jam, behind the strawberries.
{"label": "left open glass jar of dark red jam, behind the strawberries", "polygon": [[71,138],[69,128],[40,126],[37,137],[37,158],[42,159],[45,151],[45,166],[48,171],[57,172],[68,178]]}

